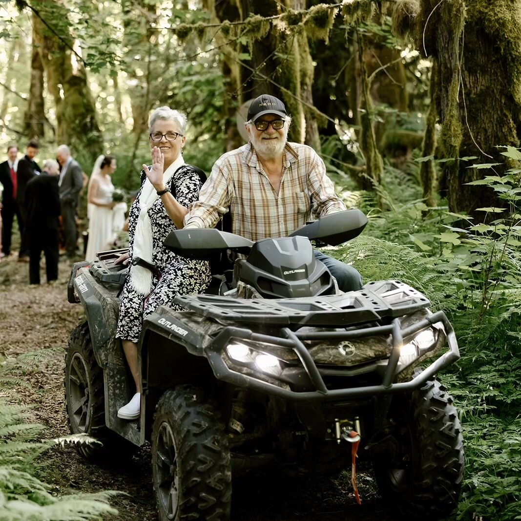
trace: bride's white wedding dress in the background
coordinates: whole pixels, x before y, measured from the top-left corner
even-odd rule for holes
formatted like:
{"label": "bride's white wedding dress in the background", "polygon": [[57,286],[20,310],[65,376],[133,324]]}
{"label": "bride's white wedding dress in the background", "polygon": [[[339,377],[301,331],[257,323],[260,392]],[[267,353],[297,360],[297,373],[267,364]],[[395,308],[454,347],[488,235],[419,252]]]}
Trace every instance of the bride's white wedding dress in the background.
{"label": "bride's white wedding dress in the background", "polygon": [[[110,180],[108,183],[100,182],[96,200],[109,204],[112,202],[113,193],[114,185]],[[89,241],[85,261],[93,261],[96,253],[106,251],[108,243],[114,239],[114,212],[110,208],[89,203],[87,213],[89,215]]]}

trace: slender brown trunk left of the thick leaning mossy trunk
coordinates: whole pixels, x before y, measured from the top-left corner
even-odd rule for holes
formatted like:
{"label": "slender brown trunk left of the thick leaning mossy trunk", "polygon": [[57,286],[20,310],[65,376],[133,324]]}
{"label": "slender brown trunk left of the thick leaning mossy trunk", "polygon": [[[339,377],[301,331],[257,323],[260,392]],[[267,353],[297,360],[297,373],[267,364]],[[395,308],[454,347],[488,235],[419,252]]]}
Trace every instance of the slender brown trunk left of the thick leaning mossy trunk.
{"label": "slender brown trunk left of the thick leaning mossy trunk", "polygon": [[31,55],[31,85],[29,100],[23,122],[26,135],[29,139],[44,137],[45,106],[43,102],[43,63],[38,44],[36,43],[35,24],[33,15],[32,55]]}

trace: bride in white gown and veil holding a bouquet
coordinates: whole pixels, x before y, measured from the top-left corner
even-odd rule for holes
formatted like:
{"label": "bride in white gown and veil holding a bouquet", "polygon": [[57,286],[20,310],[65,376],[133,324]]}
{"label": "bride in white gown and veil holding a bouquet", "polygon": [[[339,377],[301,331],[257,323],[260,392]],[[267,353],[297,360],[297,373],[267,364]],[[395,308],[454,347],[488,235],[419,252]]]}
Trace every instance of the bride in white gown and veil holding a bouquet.
{"label": "bride in white gown and veil holding a bouquet", "polygon": [[116,159],[112,156],[99,156],[96,159],[89,181],[87,195],[89,217],[89,241],[85,261],[93,261],[96,253],[107,249],[107,243],[113,237],[112,200],[114,185],[110,180],[116,170]]}

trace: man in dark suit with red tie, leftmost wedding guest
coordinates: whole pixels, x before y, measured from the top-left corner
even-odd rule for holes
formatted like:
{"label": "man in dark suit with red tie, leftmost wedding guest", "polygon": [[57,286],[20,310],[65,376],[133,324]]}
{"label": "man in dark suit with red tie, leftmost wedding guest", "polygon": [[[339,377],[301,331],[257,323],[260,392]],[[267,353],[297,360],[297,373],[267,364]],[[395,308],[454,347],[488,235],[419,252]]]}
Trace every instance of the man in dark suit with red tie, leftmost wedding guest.
{"label": "man in dark suit with red tie, leftmost wedding guest", "polygon": [[0,183],[4,188],[2,192],[2,257],[11,253],[11,234],[13,221],[16,216],[18,228],[22,229],[18,203],[16,202],[17,170],[18,170],[18,147],[9,145],[7,147],[7,161],[0,163]]}

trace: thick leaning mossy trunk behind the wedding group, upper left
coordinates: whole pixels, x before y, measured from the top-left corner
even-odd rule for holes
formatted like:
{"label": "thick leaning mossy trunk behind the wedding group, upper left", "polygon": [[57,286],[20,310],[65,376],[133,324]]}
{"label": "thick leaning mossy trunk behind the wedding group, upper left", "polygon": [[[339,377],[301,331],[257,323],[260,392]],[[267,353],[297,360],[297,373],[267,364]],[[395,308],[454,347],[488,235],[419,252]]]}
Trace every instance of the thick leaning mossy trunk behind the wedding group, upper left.
{"label": "thick leaning mossy trunk behind the wedding group, upper left", "polygon": [[103,139],[85,68],[80,58],[72,57],[73,42],[66,30],[67,10],[51,0],[39,4],[39,7],[44,19],[62,21],[57,26],[60,38],[40,19],[34,24],[47,88],[56,106],[56,139],[70,145],[73,154],[91,160],[102,152]]}

